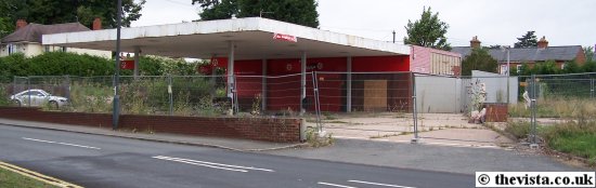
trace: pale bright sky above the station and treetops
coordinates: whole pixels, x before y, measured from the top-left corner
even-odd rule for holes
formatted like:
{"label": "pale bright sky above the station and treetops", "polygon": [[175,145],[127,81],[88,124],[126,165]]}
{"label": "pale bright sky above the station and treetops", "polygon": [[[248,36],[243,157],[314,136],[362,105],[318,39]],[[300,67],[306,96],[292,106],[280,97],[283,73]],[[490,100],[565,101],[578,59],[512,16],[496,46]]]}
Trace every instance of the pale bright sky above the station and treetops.
{"label": "pale bright sky above the station and treetops", "polygon": [[[191,0],[147,0],[132,26],[198,19]],[[529,30],[549,45],[596,44],[596,0],[318,0],[320,28],[403,43],[404,26],[431,8],[449,24],[448,42],[468,46],[474,36],[482,45],[513,45]],[[363,3],[364,2],[364,3]]]}

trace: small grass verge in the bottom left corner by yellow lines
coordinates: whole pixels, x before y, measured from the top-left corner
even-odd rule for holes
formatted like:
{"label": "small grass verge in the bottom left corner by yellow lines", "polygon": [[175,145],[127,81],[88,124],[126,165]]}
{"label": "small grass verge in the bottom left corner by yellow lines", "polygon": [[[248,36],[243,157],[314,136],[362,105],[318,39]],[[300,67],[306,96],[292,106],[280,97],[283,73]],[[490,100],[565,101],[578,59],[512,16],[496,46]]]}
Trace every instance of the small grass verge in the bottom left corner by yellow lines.
{"label": "small grass verge in the bottom left corner by yellow lines", "polygon": [[0,187],[24,187],[24,188],[57,188],[37,179],[21,175],[18,173],[0,167]]}

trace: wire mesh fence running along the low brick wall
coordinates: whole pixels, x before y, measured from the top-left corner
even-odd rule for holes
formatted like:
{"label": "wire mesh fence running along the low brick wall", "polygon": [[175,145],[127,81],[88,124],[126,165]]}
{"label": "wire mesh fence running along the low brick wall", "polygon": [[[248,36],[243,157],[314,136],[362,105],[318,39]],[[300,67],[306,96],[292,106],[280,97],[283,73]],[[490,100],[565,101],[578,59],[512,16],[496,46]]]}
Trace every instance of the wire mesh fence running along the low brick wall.
{"label": "wire mesh fence running along the low brick wall", "polygon": [[[228,85],[229,78],[233,84]],[[186,117],[298,116],[314,109],[311,75],[286,76],[122,76],[120,113]],[[112,113],[114,77],[14,77],[0,84],[1,106]],[[13,96],[14,95],[14,96]],[[64,102],[54,104],[56,98]]]}

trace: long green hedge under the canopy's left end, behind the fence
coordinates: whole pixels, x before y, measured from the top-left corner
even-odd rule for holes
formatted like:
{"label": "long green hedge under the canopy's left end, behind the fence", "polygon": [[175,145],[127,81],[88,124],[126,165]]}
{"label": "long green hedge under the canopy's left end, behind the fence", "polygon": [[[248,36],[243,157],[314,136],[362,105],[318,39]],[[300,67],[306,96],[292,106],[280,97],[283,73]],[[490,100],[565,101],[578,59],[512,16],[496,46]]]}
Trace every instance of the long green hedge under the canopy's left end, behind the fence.
{"label": "long green hedge under the canopy's left end, behind the fence", "polygon": [[[182,58],[159,56],[141,56],[139,75],[141,76],[191,76],[196,73],[196,66],[205,62],[186,63]],[[69,52],[46,52],[34,57],[22,53],[0,57],[0,82],[11,82],[14,76],[111,76],[114,75],[114,59]],[[132,70],[120,71],[131,76]]]}

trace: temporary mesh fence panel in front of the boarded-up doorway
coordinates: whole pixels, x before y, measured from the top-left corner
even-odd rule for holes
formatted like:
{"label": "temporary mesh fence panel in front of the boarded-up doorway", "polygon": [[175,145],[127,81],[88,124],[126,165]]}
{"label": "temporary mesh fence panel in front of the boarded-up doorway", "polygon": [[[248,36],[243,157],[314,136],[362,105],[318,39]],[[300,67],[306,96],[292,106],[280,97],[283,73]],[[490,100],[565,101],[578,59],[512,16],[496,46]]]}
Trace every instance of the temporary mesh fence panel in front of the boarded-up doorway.
{"label": "temporary mesh fence panel in front of the boarded-up doorway", "polygon": [[323,130],[345,137],[411,139],[410,72],[315,72]]}

